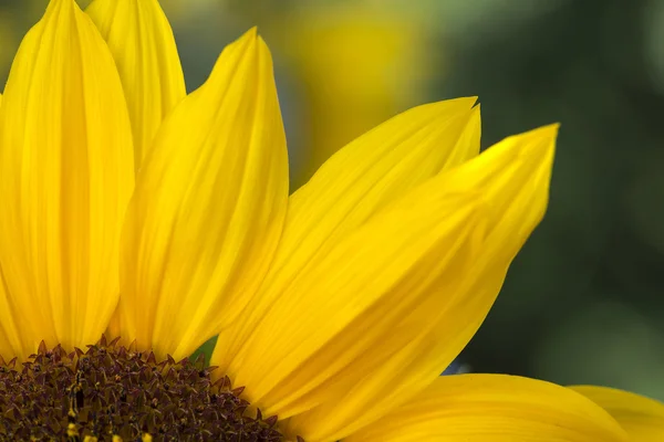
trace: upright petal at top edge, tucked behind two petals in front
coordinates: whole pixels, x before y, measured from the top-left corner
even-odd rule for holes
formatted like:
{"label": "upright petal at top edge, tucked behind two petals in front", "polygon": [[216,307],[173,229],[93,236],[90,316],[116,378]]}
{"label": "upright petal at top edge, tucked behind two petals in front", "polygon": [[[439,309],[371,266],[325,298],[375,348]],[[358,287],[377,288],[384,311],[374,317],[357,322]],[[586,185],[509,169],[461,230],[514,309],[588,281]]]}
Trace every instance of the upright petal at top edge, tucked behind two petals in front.
{"label": "upright petal at top edge, tucked behind two petals in front", "polygon": [[85,12],[115,59],[138,170],[162,120],[186,94],[170,24],[157,0],[94,0]]}

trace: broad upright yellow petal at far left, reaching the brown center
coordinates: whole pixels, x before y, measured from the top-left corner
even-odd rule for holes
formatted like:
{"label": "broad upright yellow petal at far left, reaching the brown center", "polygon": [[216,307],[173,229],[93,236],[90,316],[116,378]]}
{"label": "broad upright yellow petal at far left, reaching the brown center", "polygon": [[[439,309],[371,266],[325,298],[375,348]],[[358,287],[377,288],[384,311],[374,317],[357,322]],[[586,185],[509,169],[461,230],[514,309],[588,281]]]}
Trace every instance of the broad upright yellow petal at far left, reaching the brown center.
{"label": "broad upright yellow petal at far left, reaching the brown center", "polygon": [[0,134],[0,262],[22,356],[41,339],[94,343],[117,303],[134,166],[113,57],[73,0],[51,1],[21,43]]}

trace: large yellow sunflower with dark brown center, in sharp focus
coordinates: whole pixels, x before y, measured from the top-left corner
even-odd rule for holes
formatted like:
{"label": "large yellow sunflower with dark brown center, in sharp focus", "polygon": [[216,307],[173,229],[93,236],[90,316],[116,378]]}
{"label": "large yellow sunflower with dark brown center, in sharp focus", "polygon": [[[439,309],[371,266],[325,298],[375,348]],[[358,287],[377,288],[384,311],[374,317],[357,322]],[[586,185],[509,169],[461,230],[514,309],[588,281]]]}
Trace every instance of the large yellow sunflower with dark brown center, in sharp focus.
{"label": "large yellow sunflower with dark brown center, in sharp focus", "polygon": [[255,30],[186,96],[156,0],[52,0],[0,105],[0,440],[654,441],[635,394],[438,377],[543,215],[556,134],[478,155],[475,99],[429,104],[289,198]]}

